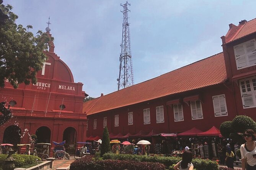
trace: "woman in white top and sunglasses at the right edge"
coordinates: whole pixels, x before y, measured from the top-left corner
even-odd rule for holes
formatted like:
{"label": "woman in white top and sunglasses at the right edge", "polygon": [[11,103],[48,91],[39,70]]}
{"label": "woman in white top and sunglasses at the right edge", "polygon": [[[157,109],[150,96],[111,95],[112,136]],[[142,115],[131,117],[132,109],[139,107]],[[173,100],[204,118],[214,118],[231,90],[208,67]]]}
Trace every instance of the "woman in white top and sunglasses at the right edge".
{"label": "woman in white top and sunglasses at the right edge", "polygon": [[256,134],[247,129],[243,134],[246,142],[240,147],[242,158],[242,170],[256,170]]}

